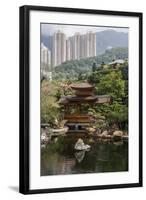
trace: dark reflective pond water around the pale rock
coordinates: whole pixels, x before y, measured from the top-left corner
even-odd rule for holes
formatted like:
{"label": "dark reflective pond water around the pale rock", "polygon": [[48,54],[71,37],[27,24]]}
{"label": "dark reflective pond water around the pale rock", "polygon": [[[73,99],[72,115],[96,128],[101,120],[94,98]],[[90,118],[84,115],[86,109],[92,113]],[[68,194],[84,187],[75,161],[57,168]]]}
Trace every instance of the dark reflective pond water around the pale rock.
{"label": "dark reflective pond water around the pale rock", "polygon": [[[79,138],[89,151],[75,151]],[[128,171],[128,142],[87,138],[77,133],[54,138],[41,149],[41,176]]]}

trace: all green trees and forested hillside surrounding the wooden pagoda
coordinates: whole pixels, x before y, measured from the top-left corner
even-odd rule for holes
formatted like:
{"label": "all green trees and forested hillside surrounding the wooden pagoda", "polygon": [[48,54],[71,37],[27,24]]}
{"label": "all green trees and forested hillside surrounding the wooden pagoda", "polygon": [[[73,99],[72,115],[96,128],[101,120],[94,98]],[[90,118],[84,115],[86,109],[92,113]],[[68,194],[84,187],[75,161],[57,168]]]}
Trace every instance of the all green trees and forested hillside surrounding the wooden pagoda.
{"label": "all green trees and forested hillside surrounding the wooden pagoda", "polygon": [[[82,105],[82,112],[92,115],[92,125],[106,129],[116,124],[120,129],[128,127],[128,62],[112,68],[113,59],[126,59],[128,50],[116,48],[97,57],[72,60],[57,66],[53,72],[54,81],[43,81],[41,88],[41,122],[54,123],[59,120],[62,107],[58,105],[61,96],[74,95],[71,83],[85,82],[95,86],[96,95],[110,95],[111,104]],[[97,66],[97,67],[96,67]],[[76,108],[70,108],[75,113]]]}

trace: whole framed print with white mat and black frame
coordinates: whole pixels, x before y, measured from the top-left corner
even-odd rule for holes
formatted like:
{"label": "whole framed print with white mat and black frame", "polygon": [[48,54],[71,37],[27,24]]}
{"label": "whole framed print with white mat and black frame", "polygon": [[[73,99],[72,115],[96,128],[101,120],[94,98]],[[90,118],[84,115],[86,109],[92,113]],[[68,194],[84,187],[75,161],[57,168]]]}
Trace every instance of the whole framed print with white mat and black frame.
{"label": "whole framed print with white mat and black frame", "polygon": [[20,192],[142,186],[142,13],[20,7]]}

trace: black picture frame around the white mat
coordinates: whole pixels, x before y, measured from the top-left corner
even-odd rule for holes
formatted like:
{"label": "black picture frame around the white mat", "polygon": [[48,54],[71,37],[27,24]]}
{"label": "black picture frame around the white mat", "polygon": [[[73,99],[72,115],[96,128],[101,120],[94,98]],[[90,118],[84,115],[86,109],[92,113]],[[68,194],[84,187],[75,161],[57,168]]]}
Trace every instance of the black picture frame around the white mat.
{"label": "black picture frame around the white mat", "polygon": [[[126,17],[138,17],[139,19],[139,182],[129,184],[115,184],[115,185],[97,185],[97,186],[81,186],[68,188],[51,188],[51,189],[34,189],[29,188],[29,20],[30,11],[44,11],[44,12],[67,12],[67,13],[84,13],[84,14],[102,14]],[[44,7],[44,6],[22,6],[20,7],[20,179],[19,191],[22,194],[35,193],[51,193],[51,192],[67,192],[67,191],[82,191],[82,190],[99,190],[99,189],[114,189],[114,188],[130,188],[142,186],[142,13],[138,12],[123,12],[123,11],[107,11],[107,10],[89,10],[89,9],[75,9],[63,7]]]}

